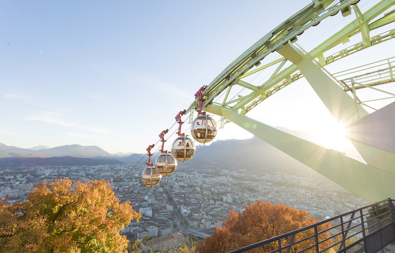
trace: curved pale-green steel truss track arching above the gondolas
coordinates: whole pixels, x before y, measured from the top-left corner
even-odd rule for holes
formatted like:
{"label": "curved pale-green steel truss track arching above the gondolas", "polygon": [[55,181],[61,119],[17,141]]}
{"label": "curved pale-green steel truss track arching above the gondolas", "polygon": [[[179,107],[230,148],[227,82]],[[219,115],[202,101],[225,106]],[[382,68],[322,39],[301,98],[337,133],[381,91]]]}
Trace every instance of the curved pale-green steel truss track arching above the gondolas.
{"label": "curved pale-green steel truss track arching above the gondolas", "polygon": [[[253,69],[253,67],[261,64],[261,61],[268,54],[276,51],[276,49],[281,47],[283,44],[287,42],[295,42],[298,35],[310,27],[318,25],[321,20],[335,15],[340,10],[344,16],[350,14],[351,12],[348,11],[348,9],[350,9],[351,6],[354,6],[356,19],[307,53],[310,58],[317,59],[320,67],[330,64],[352,53],[358,52],[368,46],[376,45],[377,43],[395,38],[395,29],[392,29],[384,35],[368,38],[371,30],[394,22],[395,12],[390,11],[385,13],[385,11],[395,4],[395,0],[381,0],[363,14],[360,13],[355,4],[358,0],[343,0],[341,3],[330,6],[332,2],[332,0],[313,1],[311,4],[291,16],[270,33],[265,35],[261,40],[248,48],[207,86],[203,92],[203,97],[206,99],[203,103],[203,107],[212,103],[217,96],[226,91],[227,95],[222,104],[224,106],[229,106],[230,104],[237,102],[232,106],[232,108],[238,110],[242,114],[245,114],[257,104],[264,101],[267,97],[276,93],[279,89],[296,81],[303,75],[296,65],[292,64],[282,71],[279,71],[286,62],[285,58],[277,59],[256,69]],[[384,17],[371,22],[383,13]],[[366,24],[366,26],[364,24]],[[350,48],[341,50],[335,55],[329,55],[324,58],[323,55],[326,51],[339,43],[349,41],[349,38],[359,33],[362,34],[362,38],[366,37],[361,43],[357,43]],[[369,39],[369,43],[367,43],[367,39]],[[260,71],[276,64],[278,65],[277,70],[264,84],[255,86],[242,80],[249,75],[259,73]],[[237,98],[235,100],[233,97],[229,96],[230,87],[232,85],[245,87],[251,92],[243,96],[242,99]],[[187,111],[196,109],[197,105],[198,101],[195,100]]]}

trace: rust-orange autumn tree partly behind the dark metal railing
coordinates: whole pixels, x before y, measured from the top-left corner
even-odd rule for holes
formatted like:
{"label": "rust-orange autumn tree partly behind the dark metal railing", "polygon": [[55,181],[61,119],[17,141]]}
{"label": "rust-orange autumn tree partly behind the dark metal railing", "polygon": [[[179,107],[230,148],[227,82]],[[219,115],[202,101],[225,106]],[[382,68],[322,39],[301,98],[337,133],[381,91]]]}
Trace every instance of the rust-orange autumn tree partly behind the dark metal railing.
{"label": "rust-orange autumn tree partly behind the dark metal railing", "polygon": [[[256,204],[252,203],[250,206],[246,206],[242,213],[229,211],[229,217],[223,222],[223,227],[217,227],[212,236],[207,237],[203,244],[198,245],[197,252],[229,252],[316,222],[317,220],[310,217],[310,214],[306,211],[297,211],[285,205],[273,205],[268,202],[258,201]],[[318,227],[318,231],[329,227],[330,224],[325,223]],[[311,235],[314,235],[314,229],[296,234],[293,241],[297,242]],[[321,241],[328,237],[329,233],[323,232],[319,235],[319,240]],[[281,242],[281,246],[286,246],[288,242],[289,238],[287,238],[287,241],[284,239]],[[314,244],[315,239],[310,238],[292,246],[290,252],[295,253]],[[325,241],[319,245],[319,248],[320,250],[324,249],[330,244],[331,240]],[[278,249],[278,241],[248,252],[266,253],[276,249]],[[316,249],[305,252],[316,252]]]}

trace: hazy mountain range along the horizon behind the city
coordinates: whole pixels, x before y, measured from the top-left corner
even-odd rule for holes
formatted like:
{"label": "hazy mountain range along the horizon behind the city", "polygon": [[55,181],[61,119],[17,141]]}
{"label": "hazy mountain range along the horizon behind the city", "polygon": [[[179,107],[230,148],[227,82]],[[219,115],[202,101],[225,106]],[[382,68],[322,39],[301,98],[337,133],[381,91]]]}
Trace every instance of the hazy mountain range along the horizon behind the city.
{"label": "hazy mountain range along the horizon behind the city", "polygon": [[[288,132],[292,132],[302,138],[312,139],[311,136],[304,131],[285,130],[288,130]],[[127,154],[122,155],[124,156]],[[158,155],[158,153],[154,154],[151,161],[155,162]],[[73,158],[101,159],[101,164],[114,164],[115,161],[135,164],[140,160],[144,163],[146,160],[143,157],[143,154],[131,154],[126,157],[120,157],[116,154],[112,155],[98,146],[81,146],[75,144],[32,150],[7,146],[0,143],[0,158],[4,159],[10,157],[29,158],[18,161],[24,161],[28,164],[35,165],[59,165],[62,162],[66,163],[66,160],[73,160],[70,162],[73,165],[88,165],[89,163],[93,163],[92,161],[82,161]],[[67,158],[62,158],[62,160],[39,159],[48,157]],[[15,160],[9,161],[15,162]],[[19,163],[18,161],[15,163]],[[181,162],[179,163],[181,164]],[[258,137],[246,140],[217,140],[211,143],[211,145],[200,145],[197,147],[197,151],[193,159],[186,163],[196,166],[196,168],[215,167],[215,165],[229,165],[230,169],[274,169],[290,173],[295,172],[297,174],[311,174],[313,171]]]}

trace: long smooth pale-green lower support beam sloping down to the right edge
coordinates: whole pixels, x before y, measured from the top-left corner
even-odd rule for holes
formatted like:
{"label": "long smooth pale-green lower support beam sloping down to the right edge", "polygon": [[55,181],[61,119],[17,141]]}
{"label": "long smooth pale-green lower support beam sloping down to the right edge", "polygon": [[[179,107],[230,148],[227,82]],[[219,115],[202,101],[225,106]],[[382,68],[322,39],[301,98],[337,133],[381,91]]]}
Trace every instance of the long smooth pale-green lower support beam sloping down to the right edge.
{"label": "long smooth pale-green lower support beam sloping down to the right edge", "polygon": [[206,110],[225,117],[371,203],[395,197],[394,168],[378,169],[228,108],[209,105]]}

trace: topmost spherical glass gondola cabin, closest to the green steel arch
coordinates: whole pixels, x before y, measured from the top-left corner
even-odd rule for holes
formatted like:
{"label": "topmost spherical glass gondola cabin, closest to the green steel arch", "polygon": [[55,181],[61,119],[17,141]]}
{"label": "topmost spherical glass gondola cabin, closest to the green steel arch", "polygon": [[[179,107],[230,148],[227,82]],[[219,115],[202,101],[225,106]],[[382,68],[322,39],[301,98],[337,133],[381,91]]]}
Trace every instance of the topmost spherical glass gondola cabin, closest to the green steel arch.
{"label": "topmost spherical glass gondola cabin, closest to the green steel arch", "polygon": [[199,115],[192,123],[191,134],[198,142],[212,141],[217,135],[217,123],[207,115]]}

